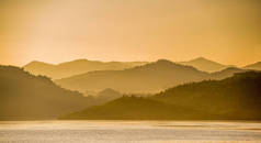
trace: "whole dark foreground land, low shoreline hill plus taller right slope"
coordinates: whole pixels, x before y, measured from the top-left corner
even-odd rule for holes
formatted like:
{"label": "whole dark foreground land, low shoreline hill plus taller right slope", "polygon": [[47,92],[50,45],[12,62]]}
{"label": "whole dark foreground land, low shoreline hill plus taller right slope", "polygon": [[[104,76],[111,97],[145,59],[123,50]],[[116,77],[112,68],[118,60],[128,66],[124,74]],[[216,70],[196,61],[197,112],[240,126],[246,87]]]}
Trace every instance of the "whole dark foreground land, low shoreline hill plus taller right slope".
{"label": "whole dark foreground land, low shoreline hill plus taller right slope", "polygon": [[235,74],[170,88],[149,98],[122,97],[60,117],[99,120],[260,120],[261,73]]}

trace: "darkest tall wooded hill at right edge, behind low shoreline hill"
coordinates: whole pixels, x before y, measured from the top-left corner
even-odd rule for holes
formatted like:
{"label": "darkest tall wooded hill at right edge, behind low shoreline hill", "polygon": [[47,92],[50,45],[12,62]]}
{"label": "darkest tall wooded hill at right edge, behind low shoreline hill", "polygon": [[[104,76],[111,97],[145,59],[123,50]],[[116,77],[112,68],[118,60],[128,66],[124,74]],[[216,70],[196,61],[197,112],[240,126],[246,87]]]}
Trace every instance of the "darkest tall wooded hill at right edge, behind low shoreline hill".
{"label": "darkest tall wooded hill at right edge, behind low shoreline hill", "polygon": [[235,74],[168,89],[152,99],[231,119],[261,119],[261,73]]}

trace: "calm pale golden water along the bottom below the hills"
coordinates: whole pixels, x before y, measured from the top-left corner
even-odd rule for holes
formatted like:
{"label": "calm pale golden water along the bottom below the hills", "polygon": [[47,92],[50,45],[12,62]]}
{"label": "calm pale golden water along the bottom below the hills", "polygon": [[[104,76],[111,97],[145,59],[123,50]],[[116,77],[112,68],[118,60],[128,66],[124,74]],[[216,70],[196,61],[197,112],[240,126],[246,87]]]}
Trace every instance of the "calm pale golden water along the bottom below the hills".
{"label": "calm pale golden water along the bottom below the hills", "polygon": [[0,143],[261,143],[261,122],[1,121]]}

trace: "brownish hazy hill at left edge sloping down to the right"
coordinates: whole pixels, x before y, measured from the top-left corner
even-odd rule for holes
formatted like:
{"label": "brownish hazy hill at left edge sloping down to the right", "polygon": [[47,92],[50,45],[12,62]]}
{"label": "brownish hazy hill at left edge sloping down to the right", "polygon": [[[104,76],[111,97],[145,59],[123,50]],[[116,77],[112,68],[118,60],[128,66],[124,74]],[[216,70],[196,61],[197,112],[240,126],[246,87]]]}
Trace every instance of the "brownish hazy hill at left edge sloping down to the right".
{"label": "brownish hazy hill at left edge sloping down to the right", "polygon": [[0,66],[0,120],[55,119],[92,105],[90,98],[63,89],[47,77]]}

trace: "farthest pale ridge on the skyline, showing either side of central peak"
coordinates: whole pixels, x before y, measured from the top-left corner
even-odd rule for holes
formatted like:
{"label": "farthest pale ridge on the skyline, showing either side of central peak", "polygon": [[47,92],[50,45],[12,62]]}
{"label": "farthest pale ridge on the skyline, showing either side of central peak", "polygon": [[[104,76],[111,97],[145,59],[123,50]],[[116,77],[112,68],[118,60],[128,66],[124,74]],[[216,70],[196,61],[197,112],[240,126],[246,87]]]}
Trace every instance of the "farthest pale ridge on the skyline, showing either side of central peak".
{"label": "farthest pale ridge on the skyline, showing either side of central peak", "polygon": [[[88,59],[76,59],[71,62],[65,62],[57,65],[31,62],[23,68],[34,75],[43,75],[50,77],[52,79],[67,78],[76,75],[86,74],[94,70],[123,70],[133,68],[135,66],[143,66],[149,64],[148,62],[99,62]],[[193,66],[198,70],[207,73],[216,73],[229,67],[236,67],[230,65],[223,65],[217,62],[209,61],[205,57],[198,57],[188,62],[177,62],[177,64]],[[242,69],[261,70],[261,63],[256,63],[241,67]]]}

